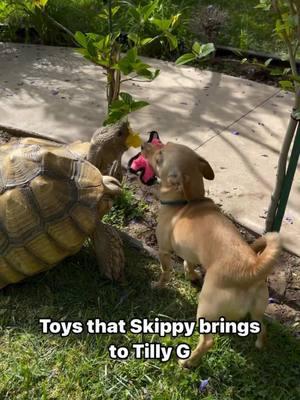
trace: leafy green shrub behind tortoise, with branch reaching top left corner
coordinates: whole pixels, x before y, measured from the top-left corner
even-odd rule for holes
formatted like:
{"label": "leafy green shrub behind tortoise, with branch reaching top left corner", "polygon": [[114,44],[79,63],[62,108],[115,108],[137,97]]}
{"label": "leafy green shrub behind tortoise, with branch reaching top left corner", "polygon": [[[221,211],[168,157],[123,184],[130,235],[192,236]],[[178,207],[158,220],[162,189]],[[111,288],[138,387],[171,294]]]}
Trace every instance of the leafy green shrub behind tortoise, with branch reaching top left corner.
{"label": "leafy green shrub behind tortoise, with branch reaching top left corner", "polygon": [[[48,24],[56,26],[79,46],[78,51],[88,60],[104,69],[106,75],[107,117],[104,124],[114,123],[148,105],[146,101],[135,100],[130,93],[122,90],[126,81],[153,81],[159,74],[144,62],[140,55],[144,49],[157,42],[164,51],[178,49],[178,39],[174,32],[181,22],[181,12],[170,15],[164,5],[166,0],[134,1],[107,0],[101,1],[97,11],[99,29],[97,33],[77,31],[75,34],[49,14],[52,0],[6,0],[10,7],[17,6],[34,20],[39,35],[45,36]],[[95,9],[96,10],[96,9]],[[99,33],[100,32],[100,33]],[[149,36],[148,33],[152,34]],[[211,43],[201,45],[195,42],[192,52],[177,60],[177,64],[207,57],[214,50]]]}

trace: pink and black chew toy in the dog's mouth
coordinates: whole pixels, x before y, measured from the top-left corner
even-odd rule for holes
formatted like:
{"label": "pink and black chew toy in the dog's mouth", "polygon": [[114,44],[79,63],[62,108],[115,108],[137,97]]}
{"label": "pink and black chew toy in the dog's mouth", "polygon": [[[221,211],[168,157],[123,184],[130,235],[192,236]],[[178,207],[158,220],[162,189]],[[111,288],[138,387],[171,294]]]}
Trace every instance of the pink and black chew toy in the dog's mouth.
{"label": "pink and black chew toy in the dog's mouth", "polygon": [[[157,147],[163,146],[156,131],[150,132],[148,143],[152,143]],[[129,160],[128,168],[133,174],[139,175],[140,180],[144,185],[150,186],[156,183],[155,172],[141,152]]]}

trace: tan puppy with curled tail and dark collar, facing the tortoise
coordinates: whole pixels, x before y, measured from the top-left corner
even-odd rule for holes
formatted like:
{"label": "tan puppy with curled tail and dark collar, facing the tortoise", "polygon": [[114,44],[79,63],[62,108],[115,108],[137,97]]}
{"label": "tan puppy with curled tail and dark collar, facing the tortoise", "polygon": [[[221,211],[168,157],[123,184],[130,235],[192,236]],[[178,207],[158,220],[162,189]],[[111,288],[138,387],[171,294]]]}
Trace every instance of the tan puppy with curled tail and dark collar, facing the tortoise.
{"label": "tan puppy with curled tail and dark collar, facing the tortoise", "polygon": [[[157,149],[142,147],[144,156],[161,179],[161,207],[157,240],[162,273],[154,287],[170,279],[171,253],[184,259],[186,276],[197,279],[195,266],[201,264],[206,276],[198,299],[197,320],[237,321],[250,313],[261,323],[255,345],[261,348],[265,336],[262,323],[268,303],[266,277],[280,253],[277,233],[268,233],[250,247],[233,223],[211,199],[204,197],[203,178],[214,179],[209,163],[186,146],[167,143]],[[259,253],[260,252],[260,253]],[[213,345],[213,335],[200,335],[184,367],[198,364]]]}

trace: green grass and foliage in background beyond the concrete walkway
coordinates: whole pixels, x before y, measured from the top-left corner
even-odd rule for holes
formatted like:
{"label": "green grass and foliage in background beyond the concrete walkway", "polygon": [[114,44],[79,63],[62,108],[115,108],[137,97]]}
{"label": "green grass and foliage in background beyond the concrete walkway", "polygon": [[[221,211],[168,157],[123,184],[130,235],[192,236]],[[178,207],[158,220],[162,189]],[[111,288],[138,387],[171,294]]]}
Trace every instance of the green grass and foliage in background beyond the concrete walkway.
{"label": "green grass and foliage in background beyond the concrete walkway", "polygon": [[[37,34],[27,33],[27,41],[42,42],[44,44],[62,45],[72,44],[71,39],[59,32],[50,21],[41,22],[38,10],[34,14],[28,14],[24,9],[17,5],[26,4],[26,0],[0,0],[0,23],[7,23],[9,32],[8,39],[23,40],[26,28],[34,27]],[[94,32],[104,34],[105,24],[99,19],[106,1],[104,0],[49,0],[47,4],[47,13],[66,26],[72,32]],[[147,5],[146,0],[132,0],[132,4]],[[159,0],[159,7],[155,10],[154,18],[170,18],[170,16],[180,12],[182,14],[181,22],[176,26],[174,35],[179,42],[179,49],[172,54],[169,47],[161,46],[159,43],[151,43],[143,50],[145,55],[160,58],[175,59],[178,52],[184,52],[190,48],[190,43],[197,38],[197,34],[190,26],[190,20],[193,25],[198,24],[201,15],[201,9],[209,5],[218,6],[228,14],[224,26],[219,32],[217,43],[238,48],[248,48],[252,50],[263,50],[267,52],[281,53],[284,47],[273,34],[274,20],[272,15],[266,15],[254,7],[258,0]],[[10,6],[8,6],[11,4]],[[123,16],[124,32],[131,26],[131,20],[128,15]],[[153,24],[143,24],[140,27],[140,35],[154,36],[159,32],[157,26]],[[0,33],[1,35],[1,33]],[[26,36],[26,34],[25,34]],[[196,37],[195,37],[196,36]],[[201,37],[205,40],[206,38]]]}

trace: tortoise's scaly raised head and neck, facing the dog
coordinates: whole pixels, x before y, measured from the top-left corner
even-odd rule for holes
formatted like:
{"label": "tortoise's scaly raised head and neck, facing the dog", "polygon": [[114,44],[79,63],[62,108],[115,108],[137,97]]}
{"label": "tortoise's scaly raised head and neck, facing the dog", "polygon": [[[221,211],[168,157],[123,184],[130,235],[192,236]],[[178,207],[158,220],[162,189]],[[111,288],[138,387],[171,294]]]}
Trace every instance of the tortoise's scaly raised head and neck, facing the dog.
{"label": "tortoise's scaly raised head and neck, facing the dog", "polygon": [[116,124],[97,129],[91,140],[88,161],[102,174],[108,174],[114,161],[121,162],[121,157],[128,149],[132,136],[134,135],[128,120],[121,120]]}

